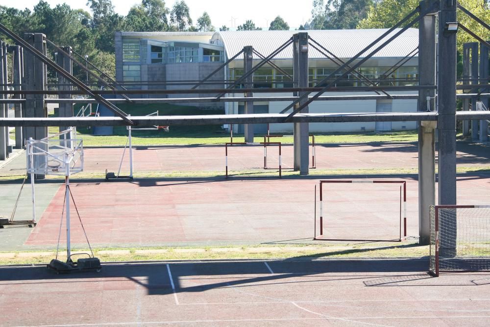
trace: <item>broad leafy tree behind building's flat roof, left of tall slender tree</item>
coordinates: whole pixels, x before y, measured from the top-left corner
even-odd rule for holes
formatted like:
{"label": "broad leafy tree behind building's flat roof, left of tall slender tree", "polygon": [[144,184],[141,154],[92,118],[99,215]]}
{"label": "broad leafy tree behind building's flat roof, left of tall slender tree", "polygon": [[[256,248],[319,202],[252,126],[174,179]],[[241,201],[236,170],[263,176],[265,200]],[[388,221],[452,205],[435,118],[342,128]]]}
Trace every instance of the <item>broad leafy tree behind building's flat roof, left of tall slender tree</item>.
{"label": "broad leafy tree behind building's flat roof, left of tall slender tree", "polygon": [[163,0],[143,0],[141,4],[131,7],[124,21],[127,31],[165,31],[168,30],[169,8]]}

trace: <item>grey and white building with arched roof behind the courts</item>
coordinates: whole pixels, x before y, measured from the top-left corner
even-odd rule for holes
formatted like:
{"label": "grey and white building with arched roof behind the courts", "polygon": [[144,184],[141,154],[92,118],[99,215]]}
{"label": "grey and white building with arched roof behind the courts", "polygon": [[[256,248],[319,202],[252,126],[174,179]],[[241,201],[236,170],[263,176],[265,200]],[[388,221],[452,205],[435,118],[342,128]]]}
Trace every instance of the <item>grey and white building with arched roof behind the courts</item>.
{"label": "grey and white building with arched roof behind the courts", "polygon": [[[395,30],[396,32],[397,30]],[[321,46],[344,61],[366,48],[386,29],[312,30],[308,35]],[[267,56],[279,48],[297,31],[226,31],[226,32],[117,32],[116,33],[116,78],[134,88],[141,89],[186,89],[195,85],[223,62],[252,46]],[[380,43],[379,43],[380,44]],[[383,79],[380,85],[416,85],[418,82],[418,57],[410,58],[417,50],[418,30],[410,28],[385,48],[364,62],[359,71],[372,80]],[[374,49],[374,48],[373,48]],[[368,54],[368,53],[366,53]],[[366,54],[363,54],[366,55]],[[361,59],[363,58],[361,56]],[[309,84],[318,85],[324,77],[337,69],[337,65],[321,52],[309,47]],[[395,72],[391,68],[403,58],[409,59]],[[261,59],[254,55],[254,65]],[[359,59],[360,60],[360,59]],[[264,65],[253,76],[256,88],[291,87],[291,80],[284,73],[293,74],[293,46],[278,53],[272,60],[283,72],[271,65]],[[243,55],[232,60],[224,69],[199,88],[223,88],[224,80],[236,80],[244,73]],[[388,74],[387,74],[388,73]],[[388,80],[387,80],[388,79]],[[142,82],[141,84],[139,84]],[[216,82],[213,83],[213,82]],[[176,85],[179,83],[179,85]],[[337,86],[361,86],[363,82],[352,74],[347,75]],[[238,87],[239,88],[239,87]],[[416,91],[391,92],[391,94],[414,94]],[[328,92],[328,95],[373,95],[374,92]],[[172,95],[172,97],[196,97],[197,95]],[[201,94],[209,97],[209,94]],[[229,95],[233,96],[233,94]],[[236,96],[243,96],[237,92]],[[292,96],[291,93],[256,93],[255,97]],[[152,95],[153,97],[153,95]],[[284,101],[254,102],[256,113],[278,113],[289,103]],[[242,113],[240,102],[199,103],[199,106],[222,106],[225,113]],[[417,100],[364,100],[364,101],[315,101],[309,106],[311,113],[323,112],[411,112],[417,111]],[[242,132],[243,126],[235,131]],[[256,126],[255,131],[264,132],[266,126]],[[415,129],[413,122],[380,122],[351,124],[310,124],[313,132],[328,131],[389,131]],[[270,126],[272,132],[291,132],[292,125]]]}

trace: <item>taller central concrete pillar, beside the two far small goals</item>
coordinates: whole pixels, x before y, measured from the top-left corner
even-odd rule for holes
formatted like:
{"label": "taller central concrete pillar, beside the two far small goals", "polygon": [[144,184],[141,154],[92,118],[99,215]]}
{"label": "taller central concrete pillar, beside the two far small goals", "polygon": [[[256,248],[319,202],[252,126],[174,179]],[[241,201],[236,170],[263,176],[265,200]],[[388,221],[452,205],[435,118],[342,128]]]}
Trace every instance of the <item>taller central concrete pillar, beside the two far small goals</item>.
{"label": "taller central concrete pillar, beside the two far small goals", "polygon": [[[297,67],[299,73],[298,86],[308,87],[308,33],[297,34],[294,43],[297,43],[293,55],[297,56]],[[294,59],[294,63],[296,59]],[[296,76],[296,75],[295,75]],[[302,96],[306,92],[300,92]],[[307,98],[299,102],[302,105],[308,101]],[[308,106],[304,107],[299,113],[308,113]],[[309,174],[309,124],[294,123],[294,170],[299,171],[300,175]]]}

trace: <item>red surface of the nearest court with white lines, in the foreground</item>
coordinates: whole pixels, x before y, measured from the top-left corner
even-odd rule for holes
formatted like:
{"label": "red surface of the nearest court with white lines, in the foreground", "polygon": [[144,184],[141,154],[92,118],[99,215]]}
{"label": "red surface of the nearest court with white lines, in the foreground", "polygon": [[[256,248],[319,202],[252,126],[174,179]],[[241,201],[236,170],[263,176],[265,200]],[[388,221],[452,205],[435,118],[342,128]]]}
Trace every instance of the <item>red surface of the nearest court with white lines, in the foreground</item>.
{"label": "red surface of the nearest court with white lines, in the foreground", "polygon": [[489,326],[490,275],[427,260],[0,268],[0,326]]}

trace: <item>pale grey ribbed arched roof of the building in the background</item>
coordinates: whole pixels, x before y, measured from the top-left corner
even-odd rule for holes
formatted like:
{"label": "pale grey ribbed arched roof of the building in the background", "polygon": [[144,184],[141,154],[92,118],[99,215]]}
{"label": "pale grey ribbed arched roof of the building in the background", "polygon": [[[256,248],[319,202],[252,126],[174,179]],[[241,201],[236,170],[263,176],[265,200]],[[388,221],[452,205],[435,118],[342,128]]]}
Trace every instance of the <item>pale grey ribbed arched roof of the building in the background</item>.
{"label": "pale grey ribbed arched roof of the building in the background", "polygon": [[[391,35],[400,29],[396,29]],[[380,37],[388,29],[340,29],[340,30],[308,30],[308,31],[226,31],[216,32],[213,41],[220,40],[224,45],[227,57],[231,58],[245,46],[252,46],[261,54],[267,56],[284,44],[297,32],[308,32],[309,36],[323,47],[340,58],[352,58],[366,48],[371,42]],[[386,37],[384,40],[388,39]],[[381,45],[383,41],[377,45]],[[409,28],[389,43],[385,48],[374,54],[373,58],[399,57],[403,58],[418,47],[418,29]],[[376,47],[371,48],[372,50]],[[370,51],[364,53],[365,57]],[[309,58],[325,58],[319,51],[309,47]],[[243,57],[242,57],[243,58]],[[276,59],[293,58],[293,46],[275,56]]]}

